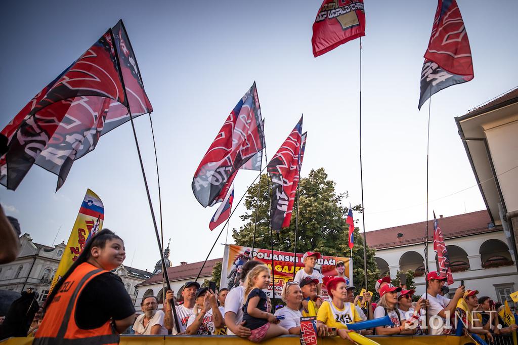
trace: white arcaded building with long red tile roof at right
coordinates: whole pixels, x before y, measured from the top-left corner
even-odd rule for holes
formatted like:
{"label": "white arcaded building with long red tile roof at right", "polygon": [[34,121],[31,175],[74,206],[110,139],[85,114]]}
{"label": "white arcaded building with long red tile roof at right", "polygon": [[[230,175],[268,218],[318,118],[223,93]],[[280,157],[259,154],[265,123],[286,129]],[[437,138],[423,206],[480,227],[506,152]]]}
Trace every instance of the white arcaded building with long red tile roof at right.
{"label": "white arcaded building with long red tile roof at right", "polygon": [[[467,289],[478,290],[479,297],[495,301],[512,300],[518,290],[515,257],[509,251],[502,226],[495,226],[486,210],[439,218],[448,250],[454,283],[450,293],[464,280]],[[376,248],[376,262],[382,275],[395,278],[397,271],[412,270],[416,294],[425,291],[424,237],[426,222],[367,232],[367,244]],[[433,243],[433,221],[428,224],[428,268],[437,269]]]}

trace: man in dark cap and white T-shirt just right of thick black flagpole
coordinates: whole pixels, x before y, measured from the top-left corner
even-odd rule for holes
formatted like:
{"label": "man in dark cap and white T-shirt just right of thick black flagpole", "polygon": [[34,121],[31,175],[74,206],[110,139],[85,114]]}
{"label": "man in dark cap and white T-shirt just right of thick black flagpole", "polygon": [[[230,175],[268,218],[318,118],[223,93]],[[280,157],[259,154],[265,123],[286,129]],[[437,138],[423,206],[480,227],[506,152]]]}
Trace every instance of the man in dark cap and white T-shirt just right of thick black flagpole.
{"label": "man in dark cap and white T-shirt just right of thick black flagpole", "polygon": [[172,330],[172,334],[185,333],[187,321],[189,317],[194,314],[194,301],[196,300],[196,292],[199,289],[199,284],[195,281],[188,281],[182,289],[183,304],[176,306],[176,314],[178,315],[178,324],[180,332],[177,332],[175,325],[175,318],[172,314],[171,300],[175,296],[173,291],[167,291],[165,295],[164,312],[165,312],[165,327]]}

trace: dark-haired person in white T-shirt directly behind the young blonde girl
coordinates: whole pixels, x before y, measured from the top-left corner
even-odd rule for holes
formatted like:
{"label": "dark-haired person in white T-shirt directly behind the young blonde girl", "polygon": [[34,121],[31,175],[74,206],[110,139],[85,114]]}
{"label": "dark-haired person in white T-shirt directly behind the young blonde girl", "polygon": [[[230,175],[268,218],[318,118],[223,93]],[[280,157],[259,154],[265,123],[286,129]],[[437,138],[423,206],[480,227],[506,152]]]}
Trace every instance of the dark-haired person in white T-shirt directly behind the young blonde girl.
{"label": "dark-haired person in white T-shirt directly behind the young blonde girl", "polygon": [[223,317],[227,326],[227,335],[237,335],[241,338],[248,338],[251,335],[250,328],[243,326],[244,286],[242,284],[248,272],[261,264],[261,262],[256,260],[250,260],[244,264],[241,269],[241,285],[234,287],[226,295],[225,315]]}

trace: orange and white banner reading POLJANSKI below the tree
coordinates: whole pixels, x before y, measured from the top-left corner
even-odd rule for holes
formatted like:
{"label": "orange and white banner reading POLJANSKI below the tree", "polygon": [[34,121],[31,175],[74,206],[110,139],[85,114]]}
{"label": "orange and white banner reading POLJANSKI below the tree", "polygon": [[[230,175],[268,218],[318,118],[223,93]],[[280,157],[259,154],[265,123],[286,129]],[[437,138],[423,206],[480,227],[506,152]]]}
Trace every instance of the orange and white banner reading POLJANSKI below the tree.
{"label": "orange and white banner reading POLJANSKI below the tree", "polygon": [[[242,247],[236,245],[225,245],[225,253],[223,255],[223,264],[221,267],[220,288],[239,286],[241,269],[252,258],[252,249],[250,247]],[[274,250],[274,268],[275,268],[275,297],[281,297],[282,286],[288,281],[293,281],[293,270],[297,272],[304,269],[302,256],[304,253],[297,253],[296,265],[294,267],[293,252],[282,252]],[[253,259],[267,265],[270,270],[271,250],[254,248]],[[342,265],[338,264],[342,262]],[[338,266],[338,267],[337,267]],[[316,261],[315,269],[319,270],[323,276],[341,276],[348,285],[353,284],[353,262],[350,257],[322,255]],[[272,297],[272,286],[265,291],[268,297]],[[329,300],[329,295],[324,286],[322,286],[322,297]]]}

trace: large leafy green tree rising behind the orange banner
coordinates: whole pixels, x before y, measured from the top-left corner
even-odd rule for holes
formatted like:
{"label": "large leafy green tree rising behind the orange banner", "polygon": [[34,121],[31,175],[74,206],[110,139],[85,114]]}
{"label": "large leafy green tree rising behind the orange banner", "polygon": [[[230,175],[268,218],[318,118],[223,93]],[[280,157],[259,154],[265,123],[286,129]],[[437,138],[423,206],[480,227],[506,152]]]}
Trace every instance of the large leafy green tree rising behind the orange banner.
{"label": "large leafy green tree rising behind the orange banner", "polygon": [[[261,176],[260,182],[251,186],[244,200],[248,212],[241,215],[244,225],[239,230],[233,229],[233,237],[237,245],[252,246],[255,211],[257,206],[257,192],[259,195],[255,248],[270,248],[270,198],[268,195],[269,178]],[[341,200],[347,198],[348,193],[337,193],[335,182],[328,179],[324,168],[312,169],[308,177],[300,180],[300,203],[297,234],[297,252],[316,250],[324,255],[350,256],[348,247],[348,226],[346,214],[348,208],[343,207]],[[353,210],[362,212],[361,205]],[[272,241],[274,250],[293,252],[295,246],[295,219],[297,212],[297,198],[293,208],[293,217],[289,228],[274,232]],[[356,220],[357,222],[357,220]],[[353,280],[356,286],[364,285],[363,236],[359,236],[358,228],[354,231]],[[379,276],[375,261],[375,249],[367,248],[367,271],[369,290]]]}

